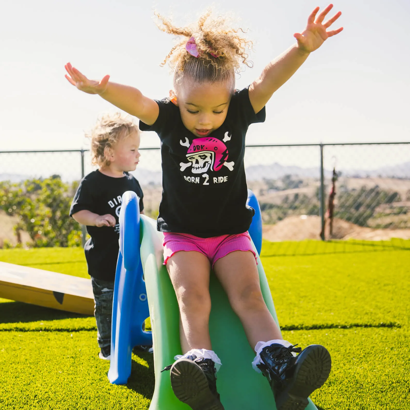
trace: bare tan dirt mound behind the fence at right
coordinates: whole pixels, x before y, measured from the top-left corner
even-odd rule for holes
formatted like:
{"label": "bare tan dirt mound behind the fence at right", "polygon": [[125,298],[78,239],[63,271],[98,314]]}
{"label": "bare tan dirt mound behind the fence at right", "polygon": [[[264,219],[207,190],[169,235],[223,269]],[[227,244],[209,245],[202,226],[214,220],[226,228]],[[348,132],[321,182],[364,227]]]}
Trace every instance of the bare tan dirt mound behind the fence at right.
{"label": "bare tan dirt mound behind the fence at right", "polygon": [[[320,239],[321,218],[319,216],[288,216],[275,225],[263,225],[262,237],[268,241],[302,241]],[[358,239],[387,241],[391,238],[410,239],[410,229],[372,229],[335,218],[333,235],[329,235],[326,223],[326,239]]]}

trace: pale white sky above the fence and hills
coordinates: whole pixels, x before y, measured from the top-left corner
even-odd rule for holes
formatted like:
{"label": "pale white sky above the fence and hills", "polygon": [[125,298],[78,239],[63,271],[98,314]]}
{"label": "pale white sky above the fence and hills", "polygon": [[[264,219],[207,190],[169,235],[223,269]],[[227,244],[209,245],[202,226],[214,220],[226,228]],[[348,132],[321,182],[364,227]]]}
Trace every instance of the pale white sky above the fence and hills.
{"label": "pale white sky above the fence and hills", "polygon": [[[294,43],[294,32],[303,30],[316,5],[327,3],[216,4],[223,13],[235,11],[255,42],[255,66],[242,73],[237,88],[252,82]],[[187,0],[4,2],[0,150],[88,148],[84,130],[112,108],[67,82],[68,61],[90,78],[110,74],[113,81],[133,85],[152,98],[167,96],[169,69],[159,63],[173,37],[153,23],[154,7],[172,14],[177,25],[203,11],[200,2]],[[410,2],[339,0],[332,13],[338,10],[342,16],[335,28],[343,25],[344,31],[326,41],[274,94],[266,122],[251,126],[248,144],[410,139]],[[141,146],[158,145],[156,134],[144,134]]]}

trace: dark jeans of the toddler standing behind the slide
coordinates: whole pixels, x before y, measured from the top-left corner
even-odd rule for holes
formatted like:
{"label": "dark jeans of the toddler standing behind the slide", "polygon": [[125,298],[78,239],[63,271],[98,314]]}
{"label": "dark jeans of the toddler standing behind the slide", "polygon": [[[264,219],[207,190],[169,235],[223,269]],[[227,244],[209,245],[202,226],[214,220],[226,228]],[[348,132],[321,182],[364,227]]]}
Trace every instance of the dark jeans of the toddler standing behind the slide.
{"label": "dark jeans of the toddler standing behind the slide", "polygon": [[114,281],[91,276],[94,293],[94,316],[97,322],[97,342],[100,348],[111,346],[112,298]]}

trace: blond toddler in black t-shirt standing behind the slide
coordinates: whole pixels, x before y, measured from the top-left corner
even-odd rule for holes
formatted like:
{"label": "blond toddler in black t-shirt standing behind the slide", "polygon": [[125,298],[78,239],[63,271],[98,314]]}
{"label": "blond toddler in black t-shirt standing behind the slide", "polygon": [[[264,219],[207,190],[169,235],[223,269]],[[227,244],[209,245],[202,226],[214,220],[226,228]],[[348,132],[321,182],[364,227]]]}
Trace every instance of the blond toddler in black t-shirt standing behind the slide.
{"label": "blond toddler in black t-shirt standing behind the slide", "polygon": [[[97,322],[98,356],[109,360],[114,278],[118,258],[121,198],[125,191],[139,197],[144,213],[143,193],[138,181],[129,174],[139,162],[139,129],[121,114],[103,116],[91,134],[92,163],[98,169],[86,175],[75,193],[70,216],[87,225],[91,238],[84,246],[91,276]],[[139,346],[152,352],[150,346]]]}

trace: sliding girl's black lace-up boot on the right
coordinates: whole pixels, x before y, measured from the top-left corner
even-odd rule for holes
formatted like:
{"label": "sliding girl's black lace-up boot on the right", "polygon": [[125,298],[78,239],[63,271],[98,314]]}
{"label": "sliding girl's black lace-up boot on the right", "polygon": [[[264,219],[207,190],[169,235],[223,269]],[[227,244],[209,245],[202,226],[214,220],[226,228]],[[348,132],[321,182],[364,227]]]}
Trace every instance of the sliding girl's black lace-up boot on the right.
{"label": "sliding girl's black lace-up boot on the right", "polygon": [[326,382],[332,367],[329,352],[319,344],[302,351],[275,343],[264,347],[260,358],[258,367],[269,380],[277,410],[304,410],[307,398]]}

